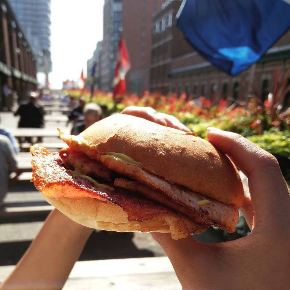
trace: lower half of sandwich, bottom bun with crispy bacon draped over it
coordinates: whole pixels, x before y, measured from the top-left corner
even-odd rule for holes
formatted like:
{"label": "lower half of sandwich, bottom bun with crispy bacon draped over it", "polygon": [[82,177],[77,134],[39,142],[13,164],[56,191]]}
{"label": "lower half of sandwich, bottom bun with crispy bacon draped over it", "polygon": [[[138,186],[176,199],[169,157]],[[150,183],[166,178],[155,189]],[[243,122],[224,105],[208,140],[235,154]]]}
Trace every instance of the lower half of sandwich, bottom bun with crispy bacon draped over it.
{"label": "lower half of sandwich, bottom bun with crispy bacon draped over it", "polygon": [[30,151],[31,182],[47,201],[81,224],[119,232],[171,233],[175,240],[201,233],[208,227],[121,188],[115,192],[94,188],[89,180],[72,177],[62,167],[58,153],[50,153],[38,145]]}

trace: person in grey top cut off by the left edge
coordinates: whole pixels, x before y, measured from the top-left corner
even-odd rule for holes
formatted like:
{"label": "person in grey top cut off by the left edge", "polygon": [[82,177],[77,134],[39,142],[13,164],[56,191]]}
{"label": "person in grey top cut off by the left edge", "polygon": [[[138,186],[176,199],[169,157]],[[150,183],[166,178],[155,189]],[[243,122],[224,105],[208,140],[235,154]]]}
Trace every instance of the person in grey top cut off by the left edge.
{"label": "person in grey top cut off by the left edge", "polygon": [[17,161],[8,137],[0,135],[0,207],[8,192],[9,174],[17,170]]}

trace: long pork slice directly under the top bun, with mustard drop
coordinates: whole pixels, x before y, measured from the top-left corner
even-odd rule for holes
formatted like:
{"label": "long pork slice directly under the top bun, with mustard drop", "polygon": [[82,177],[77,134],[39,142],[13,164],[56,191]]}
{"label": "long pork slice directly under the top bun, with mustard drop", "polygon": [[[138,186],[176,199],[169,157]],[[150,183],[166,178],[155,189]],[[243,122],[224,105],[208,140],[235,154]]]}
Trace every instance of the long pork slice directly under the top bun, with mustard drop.
{"label": "long pork slice directly under the top bun, with mustard drop", "polygon": [[[235,231],[239,213],[233,205],[224,204],[188,188],[171,184],[170,182],[143,170],[139,166],[108,158],[105,155],[102,156],[101,160],[102,163],[111,170],[137,180],[150,188],[154,188],[165,194],[170,202],[174,202],[177,205],[187,208],[188,211],[192,212],[190,215],[195,221],[212,224],[221,229],[225,229],[230,233]],[[157,195],[160,198],[160,195]],[[204,200],[210,202],[200,205],[200,202]],[[162,201],[170,206],[167,199],[162,198]]]}

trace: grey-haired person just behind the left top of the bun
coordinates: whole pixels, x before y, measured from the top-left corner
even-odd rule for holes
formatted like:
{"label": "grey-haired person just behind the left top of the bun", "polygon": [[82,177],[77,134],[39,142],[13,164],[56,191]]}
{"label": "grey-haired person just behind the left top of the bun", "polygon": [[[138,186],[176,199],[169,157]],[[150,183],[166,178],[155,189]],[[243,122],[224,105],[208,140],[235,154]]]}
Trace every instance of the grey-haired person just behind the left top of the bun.
{"label": "grey-haired person just behind the left top of the bun", "polygon": [[83,130],[90,127],[95,122],[100,121],[102,118],[102,109],[96,103],[88,103],[84,107],[83,114],[84,119],[82,121],[75,122],[72,127],[72,135],[79,135]]}

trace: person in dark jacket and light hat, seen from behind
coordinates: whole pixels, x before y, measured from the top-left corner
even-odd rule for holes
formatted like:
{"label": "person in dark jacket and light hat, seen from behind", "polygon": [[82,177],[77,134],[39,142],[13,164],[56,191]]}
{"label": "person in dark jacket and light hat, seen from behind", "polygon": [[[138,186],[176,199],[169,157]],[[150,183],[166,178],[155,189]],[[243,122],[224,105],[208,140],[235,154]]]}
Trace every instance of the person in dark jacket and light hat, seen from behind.
{"label": "person in dark jacket and light hat, seen from behind", "polygon": [[29,101],[19,106],[14,116],[19,115],[18,128],[40,128],[43,127],[44,111],[37,104],[38,94],[29,93]]}

